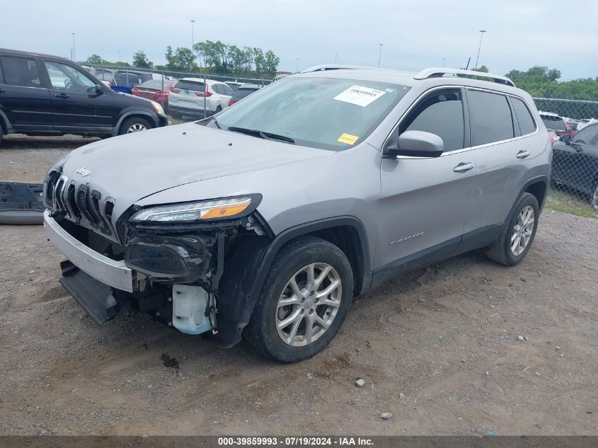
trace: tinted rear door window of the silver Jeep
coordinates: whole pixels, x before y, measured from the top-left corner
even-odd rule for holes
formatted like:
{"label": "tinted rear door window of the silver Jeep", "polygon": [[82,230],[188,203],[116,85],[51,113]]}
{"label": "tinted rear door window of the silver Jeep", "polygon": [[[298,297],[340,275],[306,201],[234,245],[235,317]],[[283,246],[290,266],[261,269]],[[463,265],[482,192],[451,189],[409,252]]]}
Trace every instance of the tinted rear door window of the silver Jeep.
{"label": "tinted rear door window of the silver Jeep", "polygon": [[468,90],[467,103],[472,147],[514,137],[513,118],[506,96]]}

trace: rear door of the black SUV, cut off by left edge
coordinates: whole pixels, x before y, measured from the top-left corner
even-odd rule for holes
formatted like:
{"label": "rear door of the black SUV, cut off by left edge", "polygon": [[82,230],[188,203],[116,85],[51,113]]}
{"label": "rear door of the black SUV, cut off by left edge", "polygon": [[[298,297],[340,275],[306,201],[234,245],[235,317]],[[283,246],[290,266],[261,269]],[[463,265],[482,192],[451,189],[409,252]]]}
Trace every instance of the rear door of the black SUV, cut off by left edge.
{"label": "rear door of the black SUV, cut off by left edge", "polygon": [[[52,129],[52,100],[40,61],[0,54],[0,108],[16,131]],[[43,69],[42,69],[43,70]]]}

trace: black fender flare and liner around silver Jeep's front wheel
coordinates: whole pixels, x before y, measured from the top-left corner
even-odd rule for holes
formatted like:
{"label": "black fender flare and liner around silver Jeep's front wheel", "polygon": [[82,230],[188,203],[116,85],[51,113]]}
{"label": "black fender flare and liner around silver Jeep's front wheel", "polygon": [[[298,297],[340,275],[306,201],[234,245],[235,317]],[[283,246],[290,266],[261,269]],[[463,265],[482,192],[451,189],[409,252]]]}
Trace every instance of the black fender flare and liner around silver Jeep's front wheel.
{"label": "black fender flare and liner around silver Jeep's front wheel", "polygon": [[369,288],[372,283],[369,243],[364,226],[356,217],[341,216],[300,224],[282,231],[274,239],[246,237],[226,258],[219,284],[217,337],[225,346],[231,347],[241,340],[270,267],[284,244],[299,236],[337,226],[351,226],[357,231],[362,253],[362,289]]}

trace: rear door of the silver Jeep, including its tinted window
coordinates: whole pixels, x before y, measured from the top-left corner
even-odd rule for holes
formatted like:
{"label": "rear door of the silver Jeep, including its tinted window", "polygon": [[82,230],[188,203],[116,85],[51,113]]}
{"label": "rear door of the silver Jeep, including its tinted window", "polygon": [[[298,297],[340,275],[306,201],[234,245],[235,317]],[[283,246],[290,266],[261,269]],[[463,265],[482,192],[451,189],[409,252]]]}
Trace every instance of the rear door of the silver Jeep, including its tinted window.
{"label": "rear door of the silver Jeep, including its tinted window", "polygon": [[[544,149],[532,148],[521,135],[507,95],[474,88],[467,88],[466,94],[478,171],[464,233],[492,239],[521,193],[532,160]],[[534,124],[531,134],[535,131]]]}

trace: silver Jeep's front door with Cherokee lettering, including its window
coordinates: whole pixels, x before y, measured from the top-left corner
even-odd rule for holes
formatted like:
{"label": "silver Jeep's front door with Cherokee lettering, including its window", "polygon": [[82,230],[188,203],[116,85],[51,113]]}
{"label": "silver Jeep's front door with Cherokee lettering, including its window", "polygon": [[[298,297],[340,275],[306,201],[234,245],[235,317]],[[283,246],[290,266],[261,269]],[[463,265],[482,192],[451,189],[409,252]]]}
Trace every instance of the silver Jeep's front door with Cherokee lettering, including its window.
{"label": "silver Jeep's front door with Cherokee lettering, including its window", "polygon": [[462,89],[442,88],[419,100],[395,131],[437,134],[444,153],[382,159],[375,283],[447,257],[459,246],[476,172],[465,117]]}

